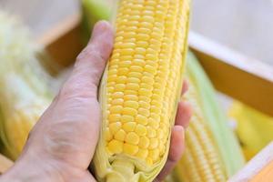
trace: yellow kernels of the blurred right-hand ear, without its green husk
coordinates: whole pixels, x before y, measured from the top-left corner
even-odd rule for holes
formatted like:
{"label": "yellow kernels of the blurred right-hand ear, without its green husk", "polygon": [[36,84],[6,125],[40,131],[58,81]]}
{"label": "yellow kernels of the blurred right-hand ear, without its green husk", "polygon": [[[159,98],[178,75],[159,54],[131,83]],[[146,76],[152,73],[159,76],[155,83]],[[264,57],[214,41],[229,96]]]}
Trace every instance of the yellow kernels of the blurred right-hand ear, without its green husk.
{"label": "yellow kernels of the blurred right-hand ear, without its green husk", "polygon": [[197,91],[192,80],[185,99],[194,107],[190,125],[186,132],[186,150],[177,164],[179,181],[207,182],[226,181],[226,169],[212,133],[207,126],[198,104]]}

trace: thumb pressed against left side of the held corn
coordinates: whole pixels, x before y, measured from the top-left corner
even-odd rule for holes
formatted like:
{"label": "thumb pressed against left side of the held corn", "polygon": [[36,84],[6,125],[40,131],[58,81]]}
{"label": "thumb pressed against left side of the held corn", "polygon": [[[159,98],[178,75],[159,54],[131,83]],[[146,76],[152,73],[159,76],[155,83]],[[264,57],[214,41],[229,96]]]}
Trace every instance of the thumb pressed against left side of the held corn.
{"label": "thumb pressed against left side of the held corn", "polygon": [[96,89],[113,47],[113,30],[106,21],[98,22],[86,48],[77,56],[72,75],[63,91],[65,95],[96,96]]}

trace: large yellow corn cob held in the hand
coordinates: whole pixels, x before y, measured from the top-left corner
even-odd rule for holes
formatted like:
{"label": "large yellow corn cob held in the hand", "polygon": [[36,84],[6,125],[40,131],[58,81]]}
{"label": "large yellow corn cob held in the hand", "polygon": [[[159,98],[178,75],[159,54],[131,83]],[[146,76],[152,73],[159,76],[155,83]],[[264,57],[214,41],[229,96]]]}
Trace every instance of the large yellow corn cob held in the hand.
{"label": "large yellow corn cob held in the hand", "polygon": [[99,181],[152,181],[164,166],[187,52],[187,0],[122,0],[100,87]]}

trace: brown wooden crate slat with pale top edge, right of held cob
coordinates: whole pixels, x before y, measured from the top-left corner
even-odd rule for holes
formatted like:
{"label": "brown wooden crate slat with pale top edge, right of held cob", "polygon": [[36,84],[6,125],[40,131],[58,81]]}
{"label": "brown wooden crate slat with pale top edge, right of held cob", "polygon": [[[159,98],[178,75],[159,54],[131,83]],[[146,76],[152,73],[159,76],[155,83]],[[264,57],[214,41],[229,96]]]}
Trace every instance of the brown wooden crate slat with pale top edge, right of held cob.
{"label": "brown wooden crate slat with pale top edge, right of held cob", "polygon": [[273,116],[273,67],[192,32],[189,45],[218,91]]}

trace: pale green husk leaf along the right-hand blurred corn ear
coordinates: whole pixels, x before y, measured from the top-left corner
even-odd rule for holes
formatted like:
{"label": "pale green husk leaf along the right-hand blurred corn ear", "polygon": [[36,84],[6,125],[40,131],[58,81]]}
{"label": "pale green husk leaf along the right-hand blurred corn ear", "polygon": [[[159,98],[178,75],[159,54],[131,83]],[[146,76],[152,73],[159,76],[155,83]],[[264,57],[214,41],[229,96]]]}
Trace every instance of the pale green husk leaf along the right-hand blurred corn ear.
{"label": "pale green husk leaf along the right-hand blurred corn ear", "polygon": [[204,121],[215,140],[227,177],[231,177],[245,164],[238,138],[228,126],[227,116],[219,106],[214,86],[202,66],[193,54],[188,54],[187,60],[187,76],[197,90],[199,107],[202,108]]}

